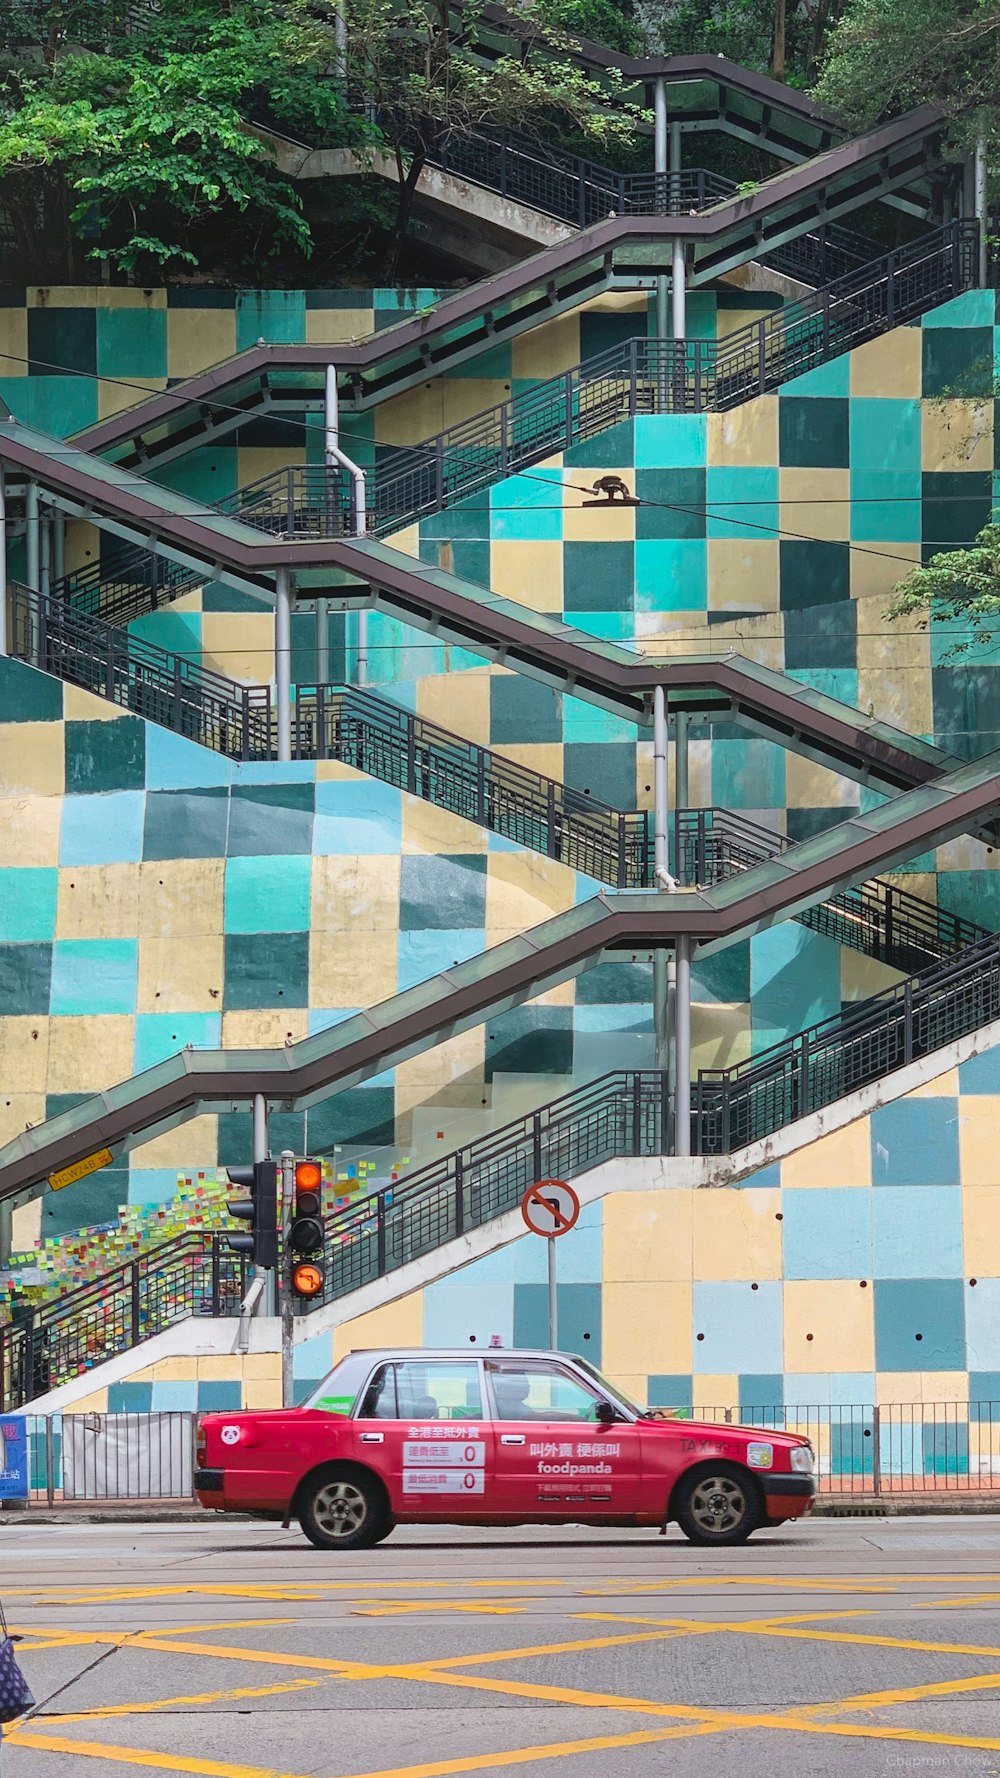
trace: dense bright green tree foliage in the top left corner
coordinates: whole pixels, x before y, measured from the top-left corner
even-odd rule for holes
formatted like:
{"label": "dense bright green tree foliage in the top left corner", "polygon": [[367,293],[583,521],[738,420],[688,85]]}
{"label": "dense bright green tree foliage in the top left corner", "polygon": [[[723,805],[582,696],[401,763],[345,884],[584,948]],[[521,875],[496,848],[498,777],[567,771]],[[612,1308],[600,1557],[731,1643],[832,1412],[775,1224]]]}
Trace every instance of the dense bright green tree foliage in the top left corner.
{"label": "dense bright green tree foliage in the top left corner", "polygon": [[9,0],[0,62],[2,201],[25,274],[87,258],[155,276],[254,263],[310,229],[247,128],[365,135],[329,78],[333,27],[308,0]]}

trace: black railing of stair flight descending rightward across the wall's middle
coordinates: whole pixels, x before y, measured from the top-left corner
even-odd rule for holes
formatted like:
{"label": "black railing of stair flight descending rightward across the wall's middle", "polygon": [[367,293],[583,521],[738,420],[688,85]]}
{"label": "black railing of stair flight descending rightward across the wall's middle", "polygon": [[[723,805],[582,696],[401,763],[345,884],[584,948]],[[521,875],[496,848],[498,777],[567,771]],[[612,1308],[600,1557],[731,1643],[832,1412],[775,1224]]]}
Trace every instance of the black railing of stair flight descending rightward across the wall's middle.
{"label": "black railing of stair flight descending rightward across the wall's middle", "polygon": [[[238,685],[16,583],[11,610],[16,660],[228,759],[278,756],[270,686]],[[295,686],[292,754],[338,759],[616,889],[653,884],[651,811],[612,809],[367,688]],[[671,868],[689,887],[712,887],[788,846],[783,834],[731,809],[678,809],[671,827]],[[972,921],[884,880],[836,891],[797,917],[906,971],[984,937]]]}

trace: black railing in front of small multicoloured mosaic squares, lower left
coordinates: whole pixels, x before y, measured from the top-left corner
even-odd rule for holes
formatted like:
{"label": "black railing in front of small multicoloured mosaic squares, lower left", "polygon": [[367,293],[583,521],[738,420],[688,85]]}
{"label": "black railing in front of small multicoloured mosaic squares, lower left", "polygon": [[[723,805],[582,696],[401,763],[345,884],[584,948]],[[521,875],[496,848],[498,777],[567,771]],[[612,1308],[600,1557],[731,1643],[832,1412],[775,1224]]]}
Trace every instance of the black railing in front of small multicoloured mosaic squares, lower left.
{"label": "black railing in front of small multicoloured mosaic squares, lower left", "polygon": [[0,1328],[0,1412],[84,1376],[187,1316],[233,1316],[246,1261],[224,1234],[189,1230]]}

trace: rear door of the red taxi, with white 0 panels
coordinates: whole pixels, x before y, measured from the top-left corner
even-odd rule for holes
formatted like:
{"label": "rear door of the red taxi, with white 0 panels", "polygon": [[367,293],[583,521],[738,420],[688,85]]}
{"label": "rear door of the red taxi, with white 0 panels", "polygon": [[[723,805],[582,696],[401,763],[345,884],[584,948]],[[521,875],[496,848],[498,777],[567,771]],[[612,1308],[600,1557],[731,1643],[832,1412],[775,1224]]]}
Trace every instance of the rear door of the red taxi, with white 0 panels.
{"label": "rear door of the red taxi, with white 0 panels", "polygon": [[383,1478],[397,1518],[454,1522],[496,1511],[479,1358],[381,1364],[354,1419],[354,1454]]}

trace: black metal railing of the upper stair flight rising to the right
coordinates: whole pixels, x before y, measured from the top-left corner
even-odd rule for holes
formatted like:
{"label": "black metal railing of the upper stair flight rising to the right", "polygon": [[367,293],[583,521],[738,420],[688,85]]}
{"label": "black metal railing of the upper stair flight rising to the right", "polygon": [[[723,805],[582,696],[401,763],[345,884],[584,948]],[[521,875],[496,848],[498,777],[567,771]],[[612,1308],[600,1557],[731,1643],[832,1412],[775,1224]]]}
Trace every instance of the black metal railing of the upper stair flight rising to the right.
{"label": "black metal railing of the upper stair flight rising to the right", "polygon": [[[626,340],[422,444],[386,452],[367,471],[367,530],[404,530],[621,420],[724,411],[767,395],[972,288],[977,240],[975,222],[948,222],[724,340]],[[276,469],[226,496],[217,510],[276,537],[338,539],[352,530],[349,478],[324,464]],[[121,624],[203,580],[190,567],[126,548],[110,565],[91,564],[52,590]]]}

